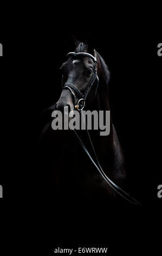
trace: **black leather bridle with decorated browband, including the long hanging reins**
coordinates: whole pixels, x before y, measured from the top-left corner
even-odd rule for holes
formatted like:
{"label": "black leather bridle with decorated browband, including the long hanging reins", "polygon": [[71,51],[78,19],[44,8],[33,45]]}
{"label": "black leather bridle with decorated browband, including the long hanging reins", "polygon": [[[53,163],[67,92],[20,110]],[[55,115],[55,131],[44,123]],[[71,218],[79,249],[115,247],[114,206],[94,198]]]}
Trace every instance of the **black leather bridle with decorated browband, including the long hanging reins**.
{"label": "black leather bridle with decorated browband, including the long hanging reins", "polygon": [[[95,65],[94,65],[94,69],[93,69],[93,74],[92,74],[92,78],[90,80],[90,83],[88,84],[86,90],[85,90],[85,93],[83,93],[83,95],[80,93],[79,89],[76,88],[76,86],[74,86],[74,84],[72,83],[64,83],[63,84],[63,76],[62,76],[62,89],[64,88],[68,88],[70,90],[70,92],[72,93],[73,97],[74,97],[74,102],[75,102],[75,93],[77,94],[77,96],[80,98],[79,101],[77,102],[77,105],[75,106],[75,108],[77,108],[77,110],[80,111],[80,113],[82,112],[82,109],[85,107],[85,102],[86,102],[86,99],[87,99],[87,95],[90,91],[90,88],[92,88],[95,80],[97,81],[96,82],[96,89],[95,89],[95,95],[94,97],[96,96],[96,91],[98,89],[98,86],[99,86],[99,77],[98,77],[98,74],[97,74],[97,69],[96,69],[96,64],[97,64],[97,59],[96,57],[94,57],[93,55],[89,54],[89,53],[86,53],[86,52],[69,52],[67,54],[67,56],[87,56],[89,58],[92,58]],[[74,90],[74,92],[73,92]],[[85,124],[86,124],[86,120],[85,121]],[[87,125],[86,125],[86,131],[87,131],[87,134],[88,134],[88,137],[89,137],[89,141],[90,141],[90,144],[92,146],[92,149],[93,149],[93,152],[94,152],[94,157],[95,157],[95,160],[93,159],[93,157],[89,154],[89,151],[87,150],[87,148],[85,147],[85,144],[83,144],[80,136],[77,134],[77,132],[74,130],[77,138],[79,139],[79,142],[83,148],[83,150],[85,150],[86,154],[88,155],[89,159],[92,161],[92,163],[94,164],[94,166],[96,167],[96,169],[98,169],[99,173],[101,174],[102,178],[105,179],[105,181],[109,184],[109,186],[111,186],[118,194],[120,194],[120,196],[124,197],[126,200],[128,200],[129,202],[133,203],[133,204],[140,204],[137,200],[135,200],[133,197],[129,196],[129,194],[127,194],[124,190],[122,190],[118,185],[116,185],[111,179],[108,178],[108,176],[105,174],[105,172],[102,170],[101,168],[101,165],[99,163],[99,160],[98,160],[98,157],[96,156],[96,152],[95,152],[95,149],[94,149],[94,146],[93,146],[93,143],[92,143],[92,140],[90,138],[90,135],[89,135],[89,132],[88,132],[88,129],[87,129]]]}

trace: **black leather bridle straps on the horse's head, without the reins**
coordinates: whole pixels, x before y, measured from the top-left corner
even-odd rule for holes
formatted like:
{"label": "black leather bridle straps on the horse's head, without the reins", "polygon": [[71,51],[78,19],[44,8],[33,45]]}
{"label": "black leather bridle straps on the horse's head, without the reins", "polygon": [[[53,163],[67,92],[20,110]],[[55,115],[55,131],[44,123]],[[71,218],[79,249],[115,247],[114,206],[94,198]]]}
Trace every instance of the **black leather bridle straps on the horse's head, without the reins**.
{"label": "black leather bridle straps on the horse's head, without the reins", "polygon": [[79,97],[79,101],[77,102],[77,105],[74,105],[74,106],[77,110],[81,111],[85,107],[85,103],[86,103],[88,93],[89,93],[90,89],[92,88],[92,86],[94,85],[95,81],[96,81],[96,88],[95,88],[94,98],[96,96],[96,92],[97,92],[97,89],[99,87],[99,77],[98,77],[98,73],[97,73],[97,59],[92,54],[87,53],[87,52],[69,52],[67,54],[67,56],[74,56],[74,57],[86,56],[86,57],[89,57],[89,58],[93,59],[93,61],[95,63],[92,78],[91,78],[85,92],[83,93],[83,95],[80,93],[80,90],[77,89],[76,86],[74,86],[74,84],[72,84],[72,83],[64,83],[63,84],[64,78],[63,78],[63,75],[62,75],[62,89],[68,88],[70,90],[70,93],[72,93],[74,102],[75,102],[75,99],[76,99],[75,93],[77,94],[77,96]]}

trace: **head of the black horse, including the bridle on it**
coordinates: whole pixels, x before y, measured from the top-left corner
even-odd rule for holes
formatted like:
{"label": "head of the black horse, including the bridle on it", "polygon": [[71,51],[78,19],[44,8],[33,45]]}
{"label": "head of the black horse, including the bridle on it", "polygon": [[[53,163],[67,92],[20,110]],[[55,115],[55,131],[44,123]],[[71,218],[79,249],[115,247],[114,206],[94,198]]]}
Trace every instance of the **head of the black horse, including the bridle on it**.
{"label": "head of the black horse, including the bridle on it", "polygon": [[68,53],[66,62],[61,66],[62,93],[56,109],[63,112],[65,106],[72,113],[75,108],[88,106],[95,99],[100,75],[100,61],[95,50],[77,42],[74,52]]}

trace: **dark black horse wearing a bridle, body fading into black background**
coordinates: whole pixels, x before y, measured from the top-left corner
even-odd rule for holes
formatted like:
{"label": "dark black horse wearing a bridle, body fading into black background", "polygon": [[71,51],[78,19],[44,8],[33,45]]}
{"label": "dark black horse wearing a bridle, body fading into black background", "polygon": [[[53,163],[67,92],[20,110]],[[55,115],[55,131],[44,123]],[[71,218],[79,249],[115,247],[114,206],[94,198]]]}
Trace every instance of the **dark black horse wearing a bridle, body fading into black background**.
{"label": "dark black horse wearing a bridle, body fading into black background", "polygon": [[[89,160],[85,151],[80,147],[79,141],[72,130],[56,130],[51,127],[51,113],[55,109],[63,112],[63,107],[68,106],[70,111],[74,110],[79,95],[85,93],[96,65],[99,77],[90,87],[84,110],[110,110],[108,100],[109,70],[103,58],[95,50],[89,50],[83,42],[76,42],[75,53],[89,53],[94,58],[84,54],[69,54],[66,62],[61,66],[63,72],[63,84],[72,84],[74,87],[63,88],[60,99],[44,112],[46,121],[40,137],[40,152],[42,166],[46,170],[47,182],[50,193],[55,198],[79,199],[109,199],[118,197],[116,191],[102,178],[93,163]],[[97,90],[96,90],[97,89]],[[73,97],[74,96],[74,97]],[[110,122],[110,133],[108,136],[100,136],[99,131],[89,131],[99,162],[106,175],[118,186],[125,187],[126,171],[124,155],[113,125]],[[79,136],[86,145],[92,156],[94,152],[86,131],[78,131]]]}

